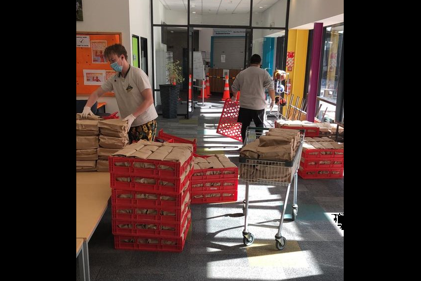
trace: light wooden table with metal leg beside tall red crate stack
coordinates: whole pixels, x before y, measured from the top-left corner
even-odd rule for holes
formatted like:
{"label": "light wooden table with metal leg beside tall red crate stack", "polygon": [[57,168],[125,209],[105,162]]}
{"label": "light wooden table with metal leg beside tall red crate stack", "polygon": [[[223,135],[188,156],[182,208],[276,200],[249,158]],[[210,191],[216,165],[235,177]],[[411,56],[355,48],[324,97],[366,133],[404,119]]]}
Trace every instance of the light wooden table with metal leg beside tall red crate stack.
{"label": "light wooden table with metal leg beside tall red crate stack", "polygon": [[88,242],[104,216],[110,196],[108,172],[76,172],[76,238],[83,239],[85,275],[88,281]]}

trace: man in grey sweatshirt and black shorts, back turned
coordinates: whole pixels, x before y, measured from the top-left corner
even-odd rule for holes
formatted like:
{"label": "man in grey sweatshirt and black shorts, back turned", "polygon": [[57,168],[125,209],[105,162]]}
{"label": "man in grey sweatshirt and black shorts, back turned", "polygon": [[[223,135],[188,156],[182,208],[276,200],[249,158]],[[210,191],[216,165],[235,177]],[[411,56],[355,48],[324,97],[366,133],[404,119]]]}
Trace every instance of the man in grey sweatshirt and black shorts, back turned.
{"label": "man in grey sweatshirt and black shorts, back turned", "polygon": [[[260,68],[262,57],[254,54],[250,58],[250,66],[238,73],[232,83],[232,101],[237,100],[237,92],[241,91],[240,111],[238,112],[238,122],[242,123],[241,136],[243,142],[246,137],[246,129],[253,120],[256,127],[264,127],[264,110],[266,101],[264,89],[267,89],[271,99],[270,107],[275,103],[275,90],[270,74]],[[259,133],[260,130],[256,130]],[[260,131],[262,132],[262,131]]]}

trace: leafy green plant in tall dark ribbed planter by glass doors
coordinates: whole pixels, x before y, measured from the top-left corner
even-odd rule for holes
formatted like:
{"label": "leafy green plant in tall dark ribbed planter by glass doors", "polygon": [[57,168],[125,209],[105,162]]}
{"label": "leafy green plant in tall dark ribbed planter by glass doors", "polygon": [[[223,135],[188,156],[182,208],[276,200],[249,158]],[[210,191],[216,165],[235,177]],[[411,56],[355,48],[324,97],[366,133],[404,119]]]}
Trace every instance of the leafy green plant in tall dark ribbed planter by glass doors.
{"label": "leafy green plant in tall dark ribbed planter by glass doors", "polygon": [[159,94],[162,104],[162,116],[164,118],[177,118],[178,114],[178,96],[180,85],[184,81],[180,61],[168,61],[165,64],[166,79],[169,84],[159,85]]}

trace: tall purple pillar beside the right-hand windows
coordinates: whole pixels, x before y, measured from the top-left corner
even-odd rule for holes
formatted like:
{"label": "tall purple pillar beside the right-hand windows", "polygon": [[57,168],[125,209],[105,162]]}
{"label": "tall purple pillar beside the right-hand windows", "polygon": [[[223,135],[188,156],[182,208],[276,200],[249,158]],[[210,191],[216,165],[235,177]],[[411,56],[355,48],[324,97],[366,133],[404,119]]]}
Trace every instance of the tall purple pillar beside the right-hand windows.
{"label": "tall purple pillar beside the right-hand windows", "polygon": [[315,22],[313,33],[312,64],[310,65],[309,96],[307,97],[307,121],[314,122],[316,114],[317,83],[320,69],[320,48],[323,23]]}

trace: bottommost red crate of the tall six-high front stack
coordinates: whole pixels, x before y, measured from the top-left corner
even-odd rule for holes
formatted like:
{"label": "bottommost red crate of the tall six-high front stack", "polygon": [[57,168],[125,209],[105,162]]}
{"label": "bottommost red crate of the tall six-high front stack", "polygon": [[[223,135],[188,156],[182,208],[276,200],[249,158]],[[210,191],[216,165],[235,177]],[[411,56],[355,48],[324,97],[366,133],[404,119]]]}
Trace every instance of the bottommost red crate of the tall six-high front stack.
{"label": "bottommost red crate of the tall six-high front stack", "polygon": [[[181,252],[183,251],[184,244],[186,242],[187,234],[189,232],[190,224],[192,220],[190,219],[186,230],[184,231],[184,237],[179,238],[155,238],[158,240],[157,244],[141,244],[139,239],[149,239],[148,236],[114,236],[114,247],[119,250],[137,250],[137,251],[154,251],[154,252]],[[124,242],[123,240],[129,240],[129,242]],[[164,241],[175,242],[176,245],[167,245],[162,244]]]}

